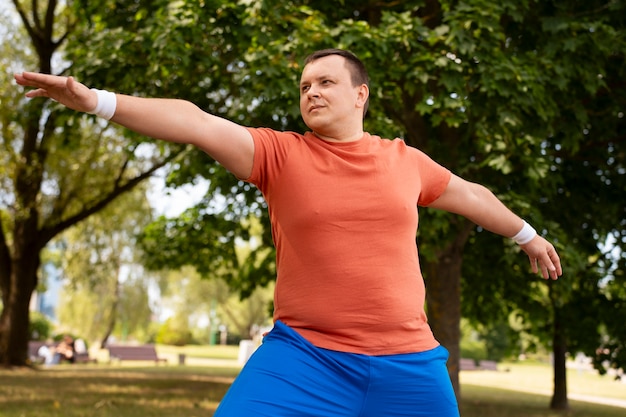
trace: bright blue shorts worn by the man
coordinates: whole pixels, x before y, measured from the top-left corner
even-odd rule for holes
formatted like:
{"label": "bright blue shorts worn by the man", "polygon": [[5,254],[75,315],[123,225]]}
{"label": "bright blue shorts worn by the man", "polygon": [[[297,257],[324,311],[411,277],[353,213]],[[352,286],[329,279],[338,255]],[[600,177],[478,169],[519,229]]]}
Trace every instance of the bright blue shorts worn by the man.
{"label": "bright blue shorts worn by the man", "polygon": [[448,351],[368,356],[313,346],[276,322],[214,417],[458,417]]}

